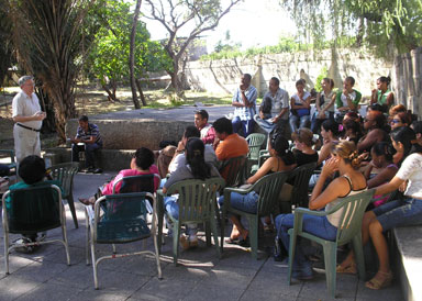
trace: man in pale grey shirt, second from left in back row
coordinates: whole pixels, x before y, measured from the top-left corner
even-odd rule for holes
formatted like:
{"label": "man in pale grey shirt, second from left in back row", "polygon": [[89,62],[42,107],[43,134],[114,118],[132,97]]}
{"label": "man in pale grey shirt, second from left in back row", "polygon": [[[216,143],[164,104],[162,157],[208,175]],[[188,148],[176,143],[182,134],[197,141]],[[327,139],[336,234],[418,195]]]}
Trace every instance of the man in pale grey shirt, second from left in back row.
{"label": "man in pale grey shirt, second from left in back row", "polygon": [[[256,114],[254,120],[268,134],[275,130],[286,137],[286,126],[289,122],[289,93],[280,88],[280,80],[277,77],[271,77],[269,80],[265,99],[271,102],[271,116],[266,118],[265,110],[259,110],[259,114]],[[263,101],[260,105],[264,104]]]}

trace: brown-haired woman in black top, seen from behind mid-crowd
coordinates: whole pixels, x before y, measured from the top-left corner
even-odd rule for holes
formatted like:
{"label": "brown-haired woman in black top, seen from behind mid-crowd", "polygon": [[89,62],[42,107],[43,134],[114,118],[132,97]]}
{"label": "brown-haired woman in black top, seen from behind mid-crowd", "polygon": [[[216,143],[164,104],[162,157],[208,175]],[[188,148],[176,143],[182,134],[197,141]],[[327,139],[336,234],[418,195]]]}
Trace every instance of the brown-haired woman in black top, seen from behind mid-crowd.
{"label": "brown-haired woman in black top, seen from behind mid-crowd", "polygon": [[299,129],[291,134],[295,142],[293,155],[297,166],[318,161],[318,153],[312,148],[313,133],[309,129]]}

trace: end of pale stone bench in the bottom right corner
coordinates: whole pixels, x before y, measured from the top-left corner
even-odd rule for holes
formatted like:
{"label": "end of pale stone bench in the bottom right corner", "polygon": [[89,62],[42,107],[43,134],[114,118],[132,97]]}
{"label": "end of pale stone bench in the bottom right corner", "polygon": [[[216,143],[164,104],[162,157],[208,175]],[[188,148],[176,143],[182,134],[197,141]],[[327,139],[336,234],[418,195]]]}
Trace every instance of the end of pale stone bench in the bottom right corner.
{"label": "end of pale stone bench in the bottom right corner", "polygon": [[403,300],[422,300],[422,226],[397,227],[392,231],[396,259]]}

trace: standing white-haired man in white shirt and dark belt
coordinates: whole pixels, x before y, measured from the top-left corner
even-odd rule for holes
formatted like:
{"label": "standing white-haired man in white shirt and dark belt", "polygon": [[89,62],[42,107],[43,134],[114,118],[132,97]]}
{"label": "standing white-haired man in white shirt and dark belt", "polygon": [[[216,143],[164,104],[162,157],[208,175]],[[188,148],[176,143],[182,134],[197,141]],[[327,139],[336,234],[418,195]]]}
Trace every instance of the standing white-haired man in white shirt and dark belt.
{"label": "standing white-haired man in white shirt and dark belt", "polygon": [[34,93],[34,78],[23,76],[19,79],[21,91],[13,98],[13,138],[18,165],[30,155],[41,157],[40,131],[45,119],[40,100]]}

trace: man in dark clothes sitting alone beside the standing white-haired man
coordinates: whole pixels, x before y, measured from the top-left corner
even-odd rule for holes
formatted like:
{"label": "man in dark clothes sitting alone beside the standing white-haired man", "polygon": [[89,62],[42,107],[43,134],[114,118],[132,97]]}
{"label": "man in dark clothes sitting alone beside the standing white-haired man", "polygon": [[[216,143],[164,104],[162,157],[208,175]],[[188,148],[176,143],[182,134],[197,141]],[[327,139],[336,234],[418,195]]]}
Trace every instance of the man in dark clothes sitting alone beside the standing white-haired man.
{"label": "man in dark clothes sitting alone beside the standing white-haired man", "polygon": [[[79,161],[79,152],[85,150],[85,165],[87,172],[101,174],[100,168],[95,167],[95,152],[102,148],[102,140],[98,126],[88,122],[88,116],[81,115],[79,118],[79,126],[75,138],[70,138],[71,145],[71,160]],[[80,145],[84,143],[85,145]],[[85,149],[84,149],[85,148]]]}

